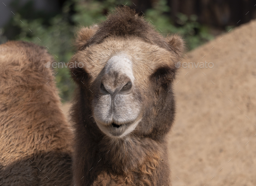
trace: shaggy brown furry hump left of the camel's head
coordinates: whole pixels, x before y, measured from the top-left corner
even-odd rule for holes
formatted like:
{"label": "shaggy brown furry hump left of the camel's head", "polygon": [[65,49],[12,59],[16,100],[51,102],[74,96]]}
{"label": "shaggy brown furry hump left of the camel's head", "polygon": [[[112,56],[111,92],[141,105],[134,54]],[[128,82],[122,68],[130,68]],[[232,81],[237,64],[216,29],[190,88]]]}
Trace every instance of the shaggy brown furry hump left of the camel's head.
{"label": "shaggy brown furry hump left of the camel's head", "polygon": [[[72,134],[40,46],[0,46],[0,185],[69,186]],[[47,176],[47,177],[46,177]]]}

